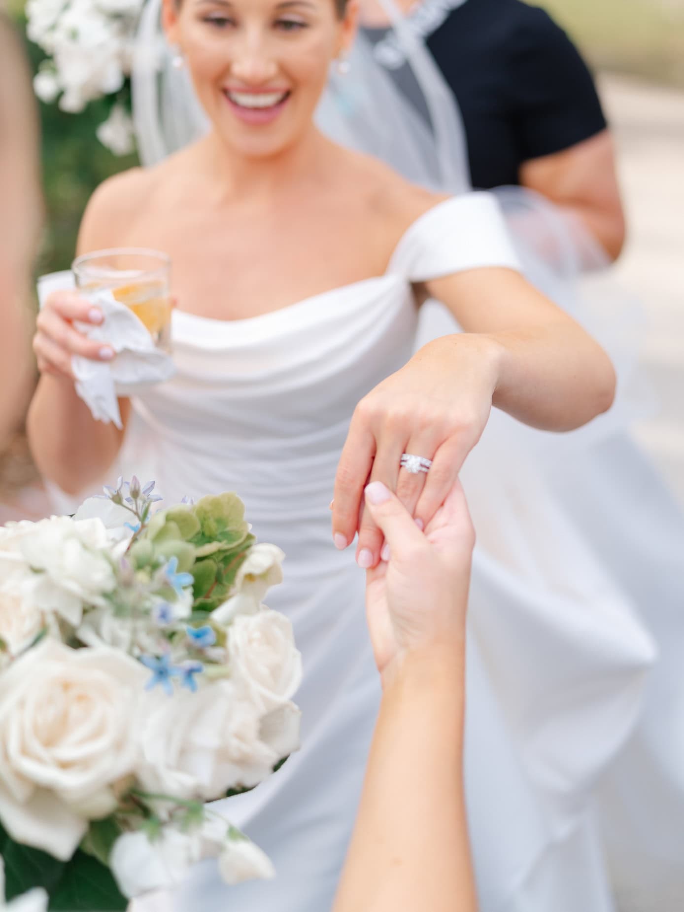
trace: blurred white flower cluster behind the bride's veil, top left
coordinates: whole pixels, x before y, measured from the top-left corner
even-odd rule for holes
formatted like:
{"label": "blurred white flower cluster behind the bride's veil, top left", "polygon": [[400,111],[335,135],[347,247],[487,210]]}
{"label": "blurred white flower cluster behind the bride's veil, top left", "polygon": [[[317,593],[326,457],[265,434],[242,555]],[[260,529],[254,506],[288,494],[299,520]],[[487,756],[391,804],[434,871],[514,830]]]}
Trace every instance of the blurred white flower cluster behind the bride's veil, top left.
{"label": "blurred white flower cluster behind the bride's veil, top left", "polygon": [[82,111],[111,100],[98,140],[115,155],[134,150],[130,68],[143,0],[28,0],[27,34],[47,54],[36,74],[36,95],[47,104]]}

